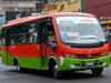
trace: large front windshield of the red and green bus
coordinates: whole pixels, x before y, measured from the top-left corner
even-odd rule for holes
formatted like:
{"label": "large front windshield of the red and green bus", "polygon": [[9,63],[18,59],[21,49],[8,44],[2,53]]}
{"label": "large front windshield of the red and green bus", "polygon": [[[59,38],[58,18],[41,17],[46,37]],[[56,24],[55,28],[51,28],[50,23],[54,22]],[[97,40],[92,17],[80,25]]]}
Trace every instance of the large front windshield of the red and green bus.
{"label": "large front windshield of the red and green bus", "polygon": [[103,31],[93,17],[57,17],[61,42],[99,43],[104,42]]}

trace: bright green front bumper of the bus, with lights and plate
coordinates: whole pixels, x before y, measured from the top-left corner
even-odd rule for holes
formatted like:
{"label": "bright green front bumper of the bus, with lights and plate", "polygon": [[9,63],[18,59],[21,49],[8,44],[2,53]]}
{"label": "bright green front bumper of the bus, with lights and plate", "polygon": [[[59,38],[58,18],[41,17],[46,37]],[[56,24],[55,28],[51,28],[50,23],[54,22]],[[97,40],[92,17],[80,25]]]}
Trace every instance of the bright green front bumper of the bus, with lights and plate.
{"label": "bright green front bumper of the bus, with lights and plate", "polygon": [[110,55],[97,59],[69,59],[59,58],[59,71],[68,70],[88,70],[93,68],[108,68],[110,65]]}

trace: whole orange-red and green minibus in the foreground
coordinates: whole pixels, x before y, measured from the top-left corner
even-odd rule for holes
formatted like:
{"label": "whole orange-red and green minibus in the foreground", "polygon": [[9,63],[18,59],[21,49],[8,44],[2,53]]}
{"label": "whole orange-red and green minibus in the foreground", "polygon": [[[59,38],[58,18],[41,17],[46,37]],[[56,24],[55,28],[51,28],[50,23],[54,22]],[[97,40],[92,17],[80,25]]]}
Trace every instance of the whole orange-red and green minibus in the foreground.
{"label": "whole orange-red and green minibus in the foreground", "polygon": [[18,70],[91,70],[100,75],[110,64],[109,45],[94,15],[61,12],[21,18],[2,28],[2,63]]}

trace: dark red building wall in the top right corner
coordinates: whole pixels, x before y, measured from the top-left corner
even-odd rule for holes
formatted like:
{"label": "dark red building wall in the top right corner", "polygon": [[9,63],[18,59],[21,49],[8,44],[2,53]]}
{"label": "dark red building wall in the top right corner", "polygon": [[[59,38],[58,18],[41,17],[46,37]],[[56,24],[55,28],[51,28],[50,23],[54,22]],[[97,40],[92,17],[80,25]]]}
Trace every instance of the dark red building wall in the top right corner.
{"label": "dark red building wall in the top right corner", "polygon": [[111,17],[111,0],[85,0],[85,12],[93,13],[99,19]]}

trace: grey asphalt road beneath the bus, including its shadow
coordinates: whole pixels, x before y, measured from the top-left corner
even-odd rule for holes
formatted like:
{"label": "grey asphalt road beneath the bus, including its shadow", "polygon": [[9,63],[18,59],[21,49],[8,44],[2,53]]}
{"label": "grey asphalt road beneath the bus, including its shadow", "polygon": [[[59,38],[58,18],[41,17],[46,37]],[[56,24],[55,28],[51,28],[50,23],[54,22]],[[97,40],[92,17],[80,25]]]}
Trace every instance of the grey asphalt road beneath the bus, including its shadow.
{"label": "grey asphalt road beneath the bus, including its shadow", "polygon": [[0,59],[0,83],[111,83],[111,66],[104,69],[101,76],[93,76],[90,70],[63,75],[63,79],[57,80],[48,71],[28,70],[20,73],[14,66],[3,65]]}

